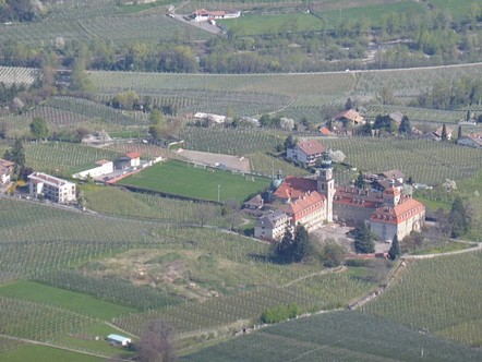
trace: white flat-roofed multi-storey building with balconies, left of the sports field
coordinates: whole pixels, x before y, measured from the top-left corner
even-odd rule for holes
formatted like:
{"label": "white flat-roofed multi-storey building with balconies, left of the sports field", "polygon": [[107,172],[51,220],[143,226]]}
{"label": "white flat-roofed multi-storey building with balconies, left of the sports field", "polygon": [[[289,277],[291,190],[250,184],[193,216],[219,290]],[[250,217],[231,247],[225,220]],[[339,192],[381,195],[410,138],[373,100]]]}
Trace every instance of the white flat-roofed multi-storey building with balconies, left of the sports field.
{"label": "white flat-roofed multi-storey building with balconies, left of the sports field", "polygon": [[34,172],[28,176],[28,190],[31,196],[35,198],[43,195],[59,204],[76,200],[75,183],[43,172]]}

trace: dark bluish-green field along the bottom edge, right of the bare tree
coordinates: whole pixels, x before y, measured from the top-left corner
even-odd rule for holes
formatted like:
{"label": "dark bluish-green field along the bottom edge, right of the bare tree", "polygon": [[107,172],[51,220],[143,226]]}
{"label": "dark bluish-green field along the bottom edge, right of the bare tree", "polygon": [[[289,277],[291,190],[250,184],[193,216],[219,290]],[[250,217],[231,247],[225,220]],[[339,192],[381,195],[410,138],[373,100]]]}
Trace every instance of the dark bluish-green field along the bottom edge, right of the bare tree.
{"label": "dark bluish-green field along the bottom edge, right of the bare tree", "polygon": [[358,312],[313,315],[208,347],[181,361],[479,361],[480,352]]}

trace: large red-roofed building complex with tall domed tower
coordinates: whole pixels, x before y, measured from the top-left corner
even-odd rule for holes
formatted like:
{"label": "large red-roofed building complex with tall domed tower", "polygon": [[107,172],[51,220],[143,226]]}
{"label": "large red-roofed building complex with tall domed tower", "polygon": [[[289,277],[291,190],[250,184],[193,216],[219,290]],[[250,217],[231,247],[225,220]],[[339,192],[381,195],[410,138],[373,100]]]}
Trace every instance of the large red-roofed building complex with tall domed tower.
{"label": "large red-roofed building complex with tall domed tower", "polygon": [[286,204],[280,210],[290,217],[291,225],[300,222],[310,229],[333,220],[365,222],[381,240],[391,240],[395,234],[401,240],[420,230],[425,220],[425,207],[401,196],[403,178],[398,170],[383,172],[375,178],[383,185],[376,191],[335,186],[332,160],[324,153],[316,178],[288,177],[273,196]]}

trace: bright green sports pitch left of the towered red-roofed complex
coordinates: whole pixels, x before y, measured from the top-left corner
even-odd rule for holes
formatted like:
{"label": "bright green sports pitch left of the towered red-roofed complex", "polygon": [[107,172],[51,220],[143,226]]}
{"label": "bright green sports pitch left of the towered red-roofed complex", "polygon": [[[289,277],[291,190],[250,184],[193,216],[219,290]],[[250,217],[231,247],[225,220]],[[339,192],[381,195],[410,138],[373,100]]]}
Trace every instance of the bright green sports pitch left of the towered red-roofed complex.
{"label": "bright green sports pitch left of the towered red-roofed complex", "polygon": [[236,200],[241,203],[248,196],[264,191],[269,185],[269,179],[232,174],[218,169],[203,169],[181,161],[168,161],[146,168],[121,180],[118,184],[197,200],[219,202]]}

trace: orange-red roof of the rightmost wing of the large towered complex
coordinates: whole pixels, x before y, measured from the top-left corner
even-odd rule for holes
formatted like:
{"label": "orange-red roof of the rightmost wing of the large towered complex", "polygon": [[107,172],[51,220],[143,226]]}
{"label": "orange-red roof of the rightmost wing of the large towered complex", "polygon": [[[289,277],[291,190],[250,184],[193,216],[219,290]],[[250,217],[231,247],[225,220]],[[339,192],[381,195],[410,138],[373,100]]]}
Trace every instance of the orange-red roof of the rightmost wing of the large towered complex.
{"label": "orange-red roof of the rightmost wing of the large towered complex", "polygon": [[370,218],[374,222],[400,224],[425,212],[425,206],[414,198],[403,197],[395,207],[379,207]]}

